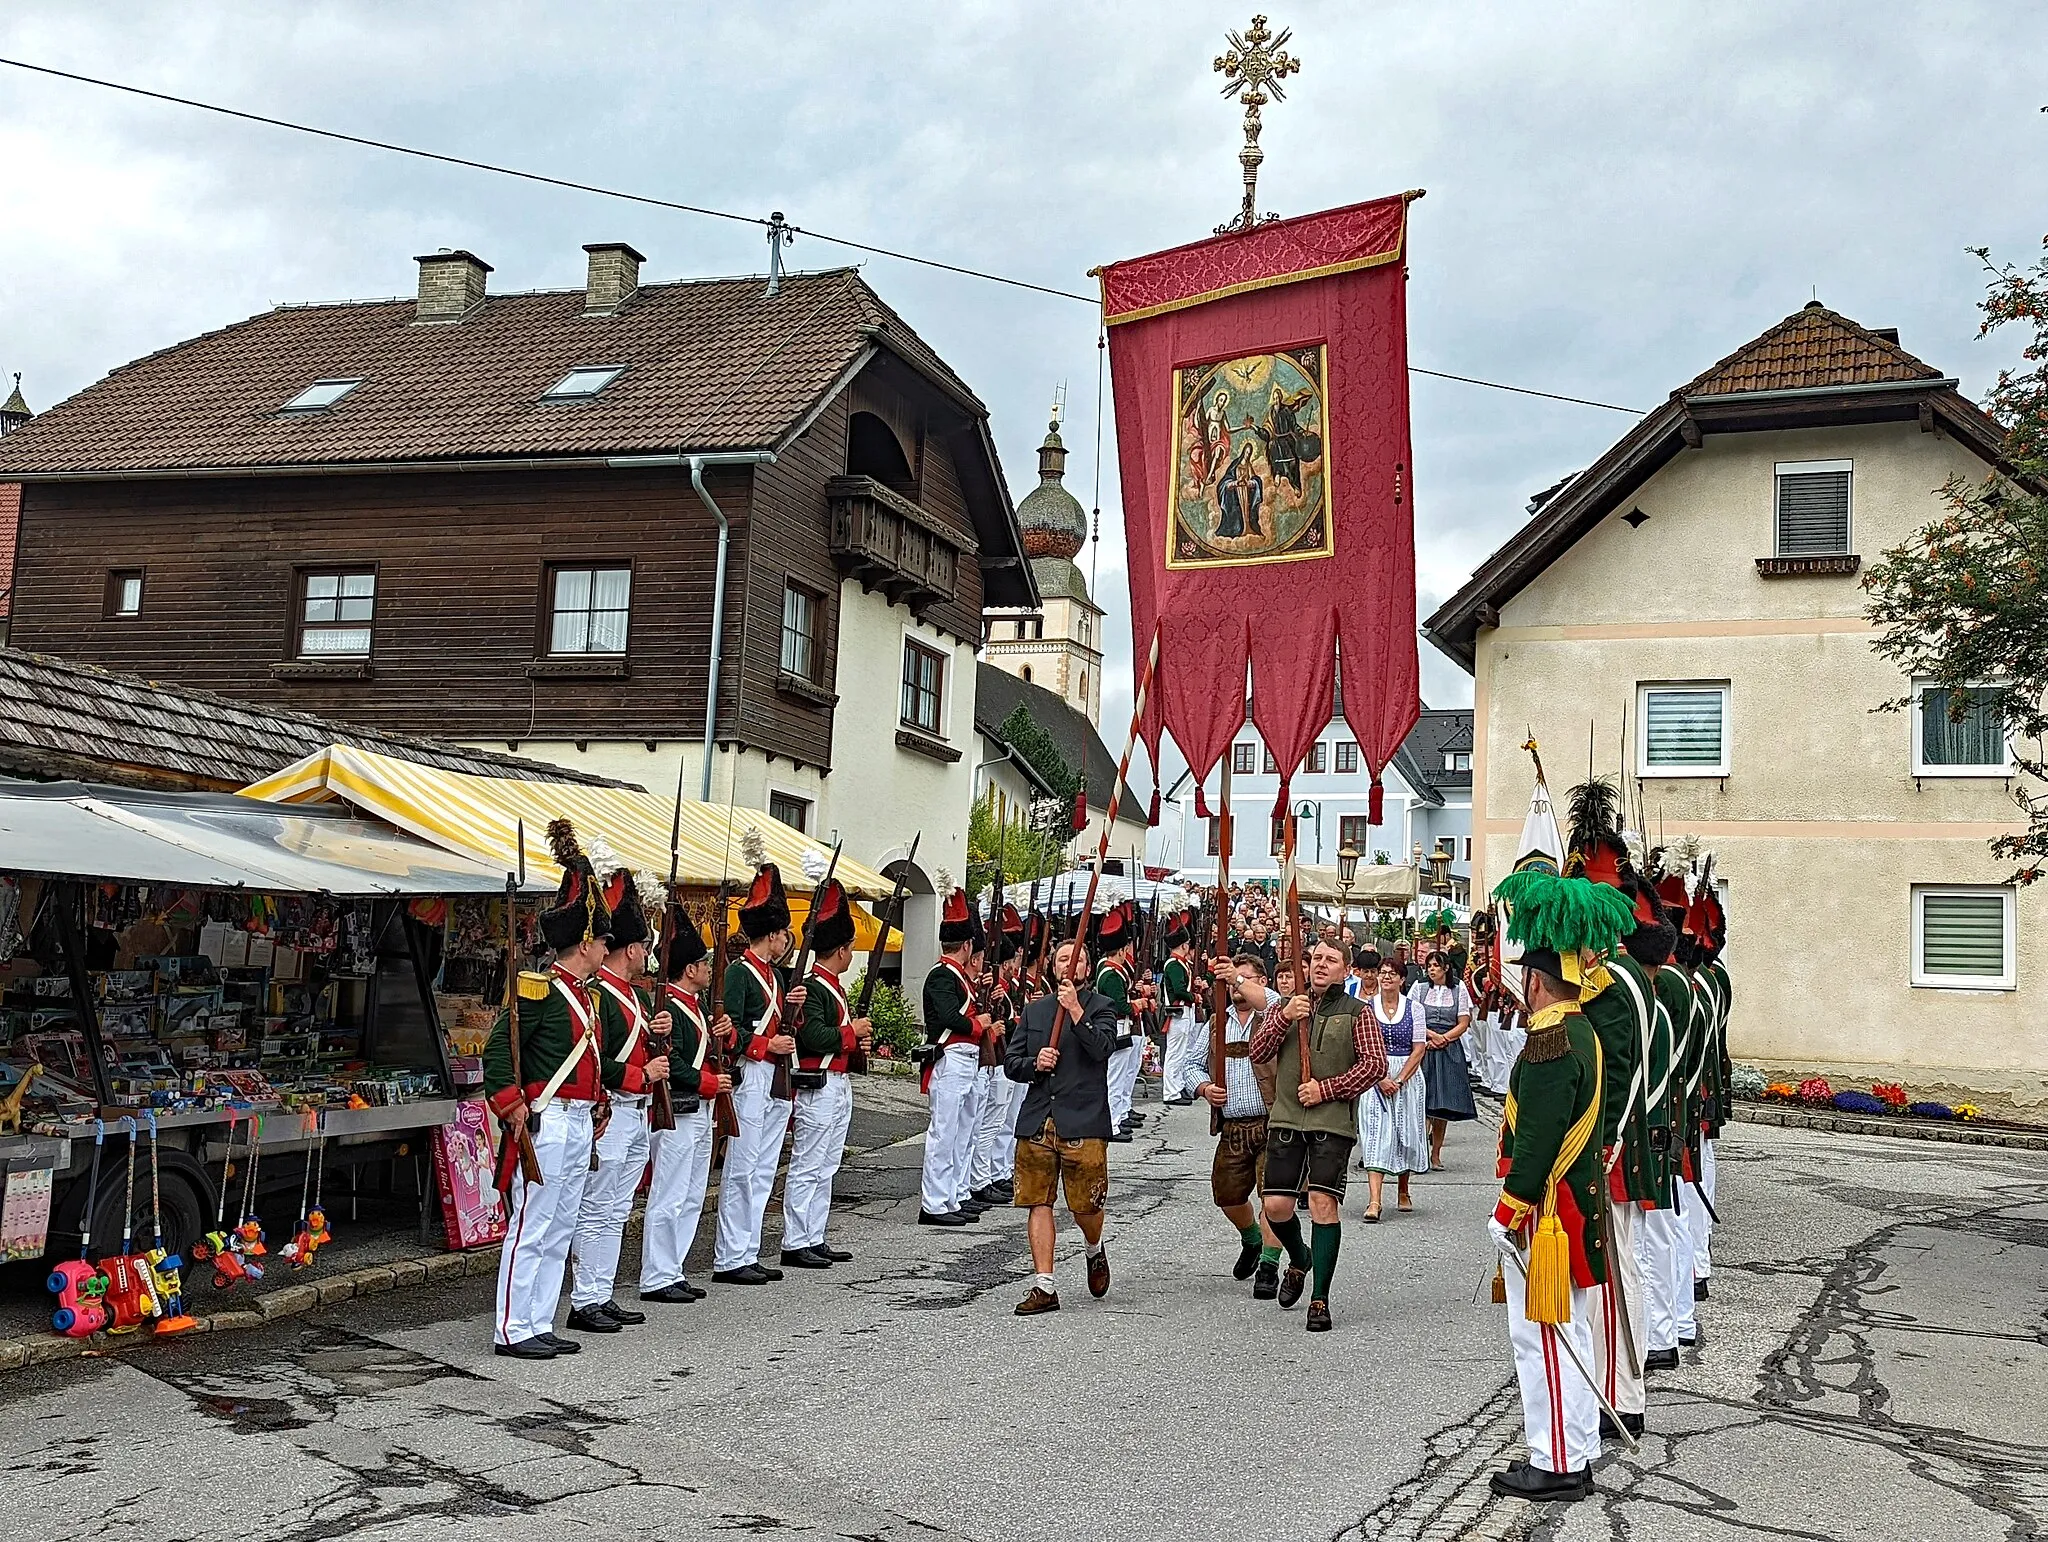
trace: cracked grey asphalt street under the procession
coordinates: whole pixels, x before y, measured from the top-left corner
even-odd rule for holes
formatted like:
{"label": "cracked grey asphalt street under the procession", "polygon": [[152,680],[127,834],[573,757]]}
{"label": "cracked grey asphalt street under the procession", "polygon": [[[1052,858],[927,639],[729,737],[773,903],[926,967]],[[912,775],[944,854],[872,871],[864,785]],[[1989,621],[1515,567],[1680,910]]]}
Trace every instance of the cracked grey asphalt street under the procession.
{"label": "cracked grey asphalt street under the procession", "polygon": [[[915,1130],[905,1089],[862,1098]],[[713,1286],[573,1360],[494,1358],[467,1280],[0,1380],[0,1538],[2048,1534],[2038,1153],[1735,1126],[1698,1347],[1599,1497],[1540,1511],[1485,1489],[1522,1454],[1491,1130],[1452,1130],[1413,1214],[1360,1225],[1360,1184],[1337,1331],[1309,1337],[1229,1278],[1206,1120],[1149,1108],[1112,1149],[1102,1302],[1063,1227],[1063,1311],[1012,1317],[1022,1216],[920,1231],[918,1145],[887,1145],[840,1180],[854,1263]]]}

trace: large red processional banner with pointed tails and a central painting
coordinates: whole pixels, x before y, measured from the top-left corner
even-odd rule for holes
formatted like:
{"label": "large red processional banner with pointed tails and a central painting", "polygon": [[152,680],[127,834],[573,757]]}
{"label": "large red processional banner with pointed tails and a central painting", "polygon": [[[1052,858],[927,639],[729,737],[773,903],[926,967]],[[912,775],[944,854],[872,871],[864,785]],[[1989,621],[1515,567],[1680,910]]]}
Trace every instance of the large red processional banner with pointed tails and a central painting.
{"label": "large red processional banner with pointed tails and a central painting", "polygon": [[1202,780],[1245,719],[1288,772],[1331,717],[1378,778],[1421,711],[1407,197],[1102,268],[1141,733]]}

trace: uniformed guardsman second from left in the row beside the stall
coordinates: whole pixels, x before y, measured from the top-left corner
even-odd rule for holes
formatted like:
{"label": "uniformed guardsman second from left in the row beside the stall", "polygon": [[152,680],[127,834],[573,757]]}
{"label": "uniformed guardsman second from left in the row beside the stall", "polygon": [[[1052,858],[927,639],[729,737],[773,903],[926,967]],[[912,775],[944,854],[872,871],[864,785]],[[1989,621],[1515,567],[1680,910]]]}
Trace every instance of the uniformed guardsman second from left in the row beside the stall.
{"label": "uniformed guardsman second from left in the row beside the stall", "polygon": [[647,1171],[647,1104],[655,1083],[668,1081],[668,1057],[653,1055],[653,1040],[670,1032],[672,1020],[655,1012],[641,977],[647,973],[647,911],[641,883],[655,891],[659,879],[618,868],[604,879],[604,905],[612,913],[612,950],[592,975],[598,1030],[604,1048],[604,1089],[612,1116],[598,1137],[598,1167],[584,1184],[584,1204],[575,1220],[569,1284],[569,1327],[578,1333],[616,1333],[647,1321],[612,1300],[618,1278],[618,1245],[625,1239],[633,1196]]}

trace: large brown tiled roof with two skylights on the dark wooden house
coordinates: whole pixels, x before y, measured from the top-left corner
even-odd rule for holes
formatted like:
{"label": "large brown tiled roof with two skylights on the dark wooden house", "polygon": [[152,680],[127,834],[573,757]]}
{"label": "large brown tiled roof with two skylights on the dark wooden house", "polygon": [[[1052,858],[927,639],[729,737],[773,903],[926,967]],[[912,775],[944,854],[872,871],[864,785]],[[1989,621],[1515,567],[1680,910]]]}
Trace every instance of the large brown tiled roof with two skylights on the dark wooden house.
{"label": "large brown tiled roof with two skylights on the dark wooden house", "polygon": [[[113,371],[0,442],[0,475],[768,448],[870,340],[981,414],[973,391],[852,268],[645,285],[616,315],[584,291],[492,295],[453,326],[414,301],[291,305]],[[625,365],[590,401],[541,401],[578,365]],[[328,412],[279,408],[319,379]]]}

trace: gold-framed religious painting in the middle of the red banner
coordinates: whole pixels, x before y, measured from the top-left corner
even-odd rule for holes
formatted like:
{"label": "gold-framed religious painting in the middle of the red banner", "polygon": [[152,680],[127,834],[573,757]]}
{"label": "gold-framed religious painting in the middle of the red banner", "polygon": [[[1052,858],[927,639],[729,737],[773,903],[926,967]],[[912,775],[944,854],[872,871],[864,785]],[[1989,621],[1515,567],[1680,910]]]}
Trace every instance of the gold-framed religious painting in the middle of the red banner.
{"label": "gold-framed religious painting in the middle of the red banner", "polygon": [[1323,344],[1174,371],[1167,567],[1327,557]]}

